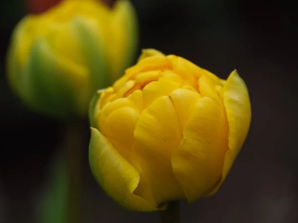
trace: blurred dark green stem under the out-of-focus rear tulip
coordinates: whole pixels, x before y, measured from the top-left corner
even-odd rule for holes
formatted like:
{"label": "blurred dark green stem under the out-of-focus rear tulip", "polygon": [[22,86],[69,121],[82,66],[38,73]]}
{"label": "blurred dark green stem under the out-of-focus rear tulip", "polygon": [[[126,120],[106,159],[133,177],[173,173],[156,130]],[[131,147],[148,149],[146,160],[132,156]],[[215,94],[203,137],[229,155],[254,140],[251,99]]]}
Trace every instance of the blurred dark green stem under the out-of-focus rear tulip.
{"label": "blurred dark green stem under the out-of-focus rear tulip", "polygon": [[67,167],[67,204],[66,223],[80,223],[81,220],[81,180],[82,180],[82,130],[80,122],[66,124],[66,167]]}

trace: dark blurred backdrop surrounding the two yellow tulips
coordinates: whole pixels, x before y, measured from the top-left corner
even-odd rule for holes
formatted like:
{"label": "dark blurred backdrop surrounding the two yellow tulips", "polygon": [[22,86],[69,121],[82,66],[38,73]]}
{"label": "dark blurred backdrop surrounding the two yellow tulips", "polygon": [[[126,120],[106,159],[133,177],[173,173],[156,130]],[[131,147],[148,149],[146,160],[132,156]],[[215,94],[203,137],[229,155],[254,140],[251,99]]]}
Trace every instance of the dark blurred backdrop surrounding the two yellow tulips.
{"label": "dark blurred backdrop surrounding the two yellow tulips", "polygon": [[[140,49],[183,56],[221,78],[236,68],[251,99],[247,140],[221,189],[192,205],[183,223],[298,222],[298,24],[287,1],[133,0]],[[33,10],[33,9],[31,9]],[[6,84],[11,31],[27,13],[21,0],[0,1],[0,223],[32,223],[39,190],[61,141],[57,120],[25,108]],[[114,203],[88,167],[86,124],[83,210],[90,223],[152,223]]]}

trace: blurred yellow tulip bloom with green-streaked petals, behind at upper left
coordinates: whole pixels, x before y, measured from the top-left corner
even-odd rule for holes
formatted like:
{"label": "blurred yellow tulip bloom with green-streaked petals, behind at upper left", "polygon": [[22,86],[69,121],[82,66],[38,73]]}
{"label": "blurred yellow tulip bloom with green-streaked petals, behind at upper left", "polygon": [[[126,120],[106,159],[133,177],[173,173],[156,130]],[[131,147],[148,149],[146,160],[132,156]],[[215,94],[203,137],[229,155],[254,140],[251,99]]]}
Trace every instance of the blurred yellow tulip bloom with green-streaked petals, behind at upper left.
{"label": "blurred yellow tulip bloom with green-streaked petals, behind at upper left", "polygon": [[31,108],[65,117],[85,115],[90,97],[133,61],[137,18],[132,4],[64,0],[15,27],[8,81]]}

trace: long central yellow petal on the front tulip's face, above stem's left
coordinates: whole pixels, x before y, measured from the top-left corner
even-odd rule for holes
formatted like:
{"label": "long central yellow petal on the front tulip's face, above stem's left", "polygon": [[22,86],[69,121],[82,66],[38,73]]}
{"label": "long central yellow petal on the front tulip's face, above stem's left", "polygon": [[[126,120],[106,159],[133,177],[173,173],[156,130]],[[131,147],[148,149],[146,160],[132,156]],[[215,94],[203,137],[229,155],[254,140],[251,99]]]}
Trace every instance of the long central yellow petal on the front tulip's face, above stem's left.
{"label": "long central yellow petal on the front tulip's face, above stem's left", "polygon": [[185,198],[171,167],[171,154],[182,135],[169,96],[157,98],[140,114],[134,135],[133,152],[138,157],[134,166],[141,174],[136,193],[149,200],[146,191],[151,189],[157,204]]}

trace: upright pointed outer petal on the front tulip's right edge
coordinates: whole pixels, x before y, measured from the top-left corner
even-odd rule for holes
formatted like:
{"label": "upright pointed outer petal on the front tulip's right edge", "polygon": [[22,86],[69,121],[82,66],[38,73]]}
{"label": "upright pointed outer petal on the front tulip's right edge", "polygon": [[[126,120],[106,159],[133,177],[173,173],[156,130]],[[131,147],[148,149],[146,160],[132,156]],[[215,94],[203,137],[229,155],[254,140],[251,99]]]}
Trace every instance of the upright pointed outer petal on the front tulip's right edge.
{"label": "upright pointed outer petal on the front tulip's right edge", "polygon": [[247,87],[236,70],[227,78],[223,94],[229,125],[229,150],[224,157],[221,182],[207,196],[214,194],[224,181],[245,141],[251,120],[251,107]]}

